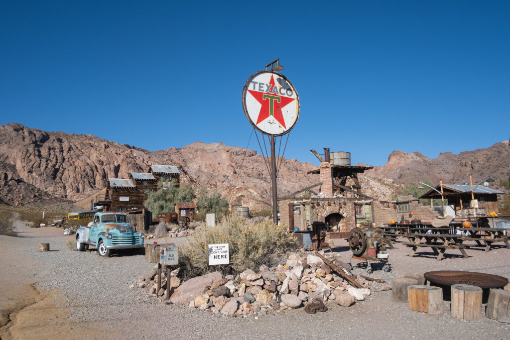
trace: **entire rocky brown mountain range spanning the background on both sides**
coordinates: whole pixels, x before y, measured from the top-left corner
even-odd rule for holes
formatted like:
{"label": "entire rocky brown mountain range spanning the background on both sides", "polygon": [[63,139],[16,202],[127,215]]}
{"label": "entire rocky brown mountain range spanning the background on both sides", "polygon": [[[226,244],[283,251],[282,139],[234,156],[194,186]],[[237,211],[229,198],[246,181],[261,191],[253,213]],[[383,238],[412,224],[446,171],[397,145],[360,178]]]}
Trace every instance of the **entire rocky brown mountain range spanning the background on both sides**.
{"label": "entire rocky brown mountain range spanning the background on both sides", "polygon": [[[319,176],[307,174],[318,165],[295,159],[282,162],[278,197],[319,181]],[[86,208],[89,198],[106,187],[108,178],[145,172],[151,164],[176,165],[182,182],[218,190],[230,203],[252,209],[270,207],[270,175],[263,157],[254,150],[195,142],[152,152],[92,135],[44,132],[15,123],[0,125],[0,199],[8,204],[70,199],[81,201]],[[361,174],[360,182],[365,194],[390,199],[409,182],[437,183],[442,178],[460,183],[468,181],[470,173],[476,182],[489,173],[495,179],[507,178],[509,165],[507,141],[457,155],[442,153],[437,159],[419,152],[393,151],[386,165]]]}

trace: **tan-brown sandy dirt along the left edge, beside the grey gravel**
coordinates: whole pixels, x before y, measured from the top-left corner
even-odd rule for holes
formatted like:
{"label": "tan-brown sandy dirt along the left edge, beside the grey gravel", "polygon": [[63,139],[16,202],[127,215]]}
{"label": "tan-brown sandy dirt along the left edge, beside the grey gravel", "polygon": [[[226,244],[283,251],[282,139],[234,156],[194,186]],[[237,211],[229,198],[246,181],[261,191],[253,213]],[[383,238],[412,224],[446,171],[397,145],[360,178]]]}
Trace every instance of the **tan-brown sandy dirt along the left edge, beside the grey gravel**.
{"label": "tan-brown sandy dirt along the left edge, beside the grey gravel", "polygon": [[[85,323],[70,325],[65,317],[64,297],[58,290],[41,292],[36,282],[47,280],[51,272],[39,261],[24,254],[23,249],[37,247],[39,240],[62,237],[62,228],[29,228],[17,221],[19,237],[0,235],[0,338],[83,338],[104,335],[104,331]],[[52,251],[50,247],[50,251]],[[120,335],[120,334],[112,334]]]}

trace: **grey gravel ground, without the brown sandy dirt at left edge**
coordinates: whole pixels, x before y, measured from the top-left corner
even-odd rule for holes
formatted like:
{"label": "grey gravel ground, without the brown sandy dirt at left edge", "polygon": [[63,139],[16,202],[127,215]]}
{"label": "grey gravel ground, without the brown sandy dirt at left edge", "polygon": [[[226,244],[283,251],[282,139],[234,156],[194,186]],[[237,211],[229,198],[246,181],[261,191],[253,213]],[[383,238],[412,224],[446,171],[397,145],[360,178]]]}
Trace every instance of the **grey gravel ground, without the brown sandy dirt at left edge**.
{"label": "grey gravel ground, without the brown sandy dirt at left edge", "polygon": [[[223,318],[187,306],[166,305],[149,298],[145,290],[130,285],[154,264],[142,255],[121,254],[101,258],[92,252],[70,251],[61,229],[42,232],[18,224],[22,238],[9,238],[19,243],[15,252],[28,256],[34,263],[34,282],[43,290],[58,289],[70,311],[66,324],[86,323],[104,330],[103,337],[117,338],[501,338],[510,337],[510,325],[482,316],[466,322],[450,316],[449,303],[441,316],[410,311],[405,303],[391,300],[391,291],[375,292],[365,301],[342,308],[335,306],[324,313],[308,315],[302,308],[287,313],[261,317]],[[73,236],[71,236],[72,238]],[[6,237],[0,243],[7,242]],[[152,242],[152,240],[150,240]],[[52,251],[37,252],[38,243],[49,243]],[[179,242],[177,242],[179,243]],[[343,252],[348,261],[350,251],[344,240],[335,240],[335,251]],[[389,250],[392,271],[374,270],[369,276],[391,283],[407,272],[430,270],[468,270],[510,277],[510,249],[495,245],[484,252],[468,249],[465,259],[456,250],[448,251],[437,261],[431,251],[410,257],[410,249],[395,243]],[[419,249],[420,250],[420,249]],[[357,262],[353,260],[353,265]],[[377,268],[377,267],[376,267]],[[367,275],[362,268],[355,274]],[[143,293],[142,293],[143,292]],[[48,316],[49,318],[49,316]],[[83,334],[83,337],[90,337]]]}

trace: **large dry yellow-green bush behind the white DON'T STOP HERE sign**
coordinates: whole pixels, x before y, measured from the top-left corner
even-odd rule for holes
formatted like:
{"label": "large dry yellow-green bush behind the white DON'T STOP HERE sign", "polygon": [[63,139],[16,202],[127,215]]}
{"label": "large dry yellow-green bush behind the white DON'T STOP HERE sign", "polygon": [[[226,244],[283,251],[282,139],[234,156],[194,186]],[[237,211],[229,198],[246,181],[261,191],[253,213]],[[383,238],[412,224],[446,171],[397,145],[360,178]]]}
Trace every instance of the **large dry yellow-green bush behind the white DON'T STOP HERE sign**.
{"label": "large dry yellow-green bush behind the white DON'T STOP HERE sign", "polygon": [[[209,266],[209,244],[228,243],[230,265]],[[223,275],[236,274],[245,269],[258,271],[282,263],[289,251],[296,249],[296,239],[285,225],[270,221],[256,224],[229,216],[215,227],[198,229],[194,238],[179,247],[182,277],[187,279],[213,271]]]}

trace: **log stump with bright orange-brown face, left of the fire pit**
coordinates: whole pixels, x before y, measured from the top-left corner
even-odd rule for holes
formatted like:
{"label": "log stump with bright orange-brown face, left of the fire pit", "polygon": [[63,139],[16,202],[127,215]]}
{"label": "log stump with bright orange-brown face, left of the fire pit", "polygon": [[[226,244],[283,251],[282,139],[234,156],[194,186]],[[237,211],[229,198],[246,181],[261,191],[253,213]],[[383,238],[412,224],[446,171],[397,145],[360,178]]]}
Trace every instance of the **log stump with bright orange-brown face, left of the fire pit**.
{"label": "log stump with bright orange-brown face, left of the fire pit", "polygon": [[409,309],[423,311],[428,315],[443,313],[443,289],[430,285],[410,285],[407,287]]}

